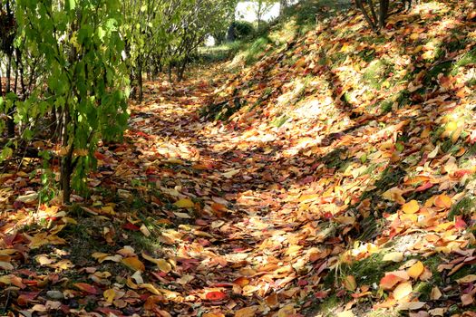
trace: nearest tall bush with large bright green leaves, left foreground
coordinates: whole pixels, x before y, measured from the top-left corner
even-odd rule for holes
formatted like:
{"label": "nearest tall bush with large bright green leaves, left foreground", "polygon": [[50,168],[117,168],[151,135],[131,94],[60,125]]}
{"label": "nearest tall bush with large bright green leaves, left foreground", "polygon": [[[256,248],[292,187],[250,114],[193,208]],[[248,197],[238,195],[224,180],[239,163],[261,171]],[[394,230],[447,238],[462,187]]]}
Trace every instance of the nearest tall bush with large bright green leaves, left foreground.
{"label": "nearest tall bush with large bright green leaves, left foreground", "polygon": [[120,2],[20,0],[17,5],[25,49],[44,60],[47,72],[42,78],[46,87],[37,86],[28,100],[16,103],[15,121],[59,114],[56,137],[68,201],[70,178],[74,188],[85,187],[98,141],[120,138],[127,124]]}

